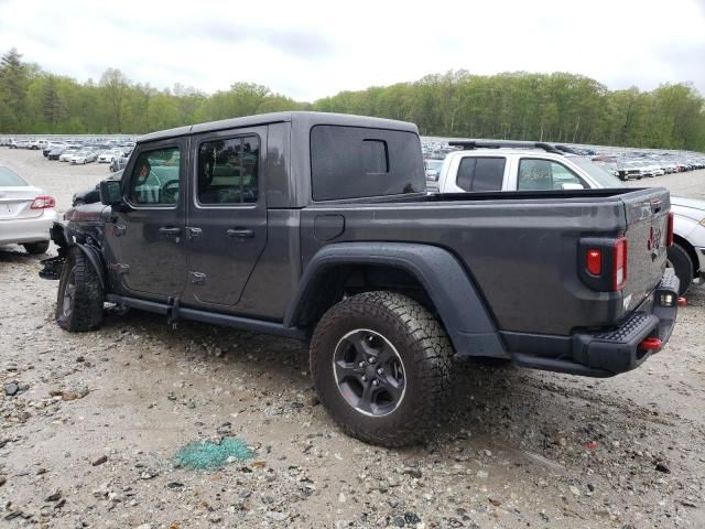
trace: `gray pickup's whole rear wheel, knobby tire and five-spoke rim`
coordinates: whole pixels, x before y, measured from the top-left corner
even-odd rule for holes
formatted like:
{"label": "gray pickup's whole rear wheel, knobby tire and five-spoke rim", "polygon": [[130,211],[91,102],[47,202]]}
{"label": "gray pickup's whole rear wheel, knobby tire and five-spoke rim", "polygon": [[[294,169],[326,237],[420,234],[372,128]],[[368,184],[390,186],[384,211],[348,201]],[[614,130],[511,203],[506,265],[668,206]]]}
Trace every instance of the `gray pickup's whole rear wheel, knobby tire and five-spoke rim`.
{"label": "gray pickup's whole rear wheel, knobby tire and five-spoke rim", "polygon": [[453,348],[437,320],[397,293],[366,292],[316,326],[311,371],[343,430],[382,446],[414,443],[444,415]]}

